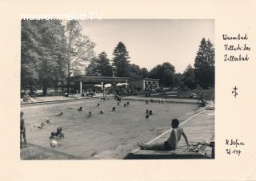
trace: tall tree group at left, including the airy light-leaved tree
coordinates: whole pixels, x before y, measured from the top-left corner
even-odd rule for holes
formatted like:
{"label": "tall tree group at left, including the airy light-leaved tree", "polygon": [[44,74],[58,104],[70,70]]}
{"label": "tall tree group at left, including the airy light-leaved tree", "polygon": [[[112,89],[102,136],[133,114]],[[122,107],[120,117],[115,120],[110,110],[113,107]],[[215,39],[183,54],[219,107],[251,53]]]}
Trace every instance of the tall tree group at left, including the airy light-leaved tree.
{"label": "tall tree group at left, including the airy light-leaved tree", "polygon": [[66,26],[59,20],[22,20],[21,88],[50,87],[67,84],[78,68],[94,57],[94,42],[82,34],[78,21]]}

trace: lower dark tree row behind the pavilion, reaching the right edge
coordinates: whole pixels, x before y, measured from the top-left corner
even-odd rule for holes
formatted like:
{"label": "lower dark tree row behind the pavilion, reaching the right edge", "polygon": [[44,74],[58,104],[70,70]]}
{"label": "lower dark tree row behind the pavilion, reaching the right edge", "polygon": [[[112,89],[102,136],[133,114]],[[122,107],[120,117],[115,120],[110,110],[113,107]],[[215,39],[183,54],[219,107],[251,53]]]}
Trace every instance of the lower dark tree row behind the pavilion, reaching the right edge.
{"label": "lower dark tree row behind the pavilion, reaching the right edge", "polygon": [[138,65],[130,64],[129,59],[126,45],[119,42],[114,49],[113,59],[108,59],[105,52],[100,53],[90,61],[90,65],[86,68],[86,75],[130,77],[131,79],[150,77],[160,79],[159,84],[163,86],[184,85],[189,89],[194,89],[197,85],[205,89],[214,86],[214,45],[205,38],[202,38],[199,45],[194,68],[188,65],[182,74],[175,73],[175,67],[170,62],[156,65],[148,71],[146,68],[141,69]]}

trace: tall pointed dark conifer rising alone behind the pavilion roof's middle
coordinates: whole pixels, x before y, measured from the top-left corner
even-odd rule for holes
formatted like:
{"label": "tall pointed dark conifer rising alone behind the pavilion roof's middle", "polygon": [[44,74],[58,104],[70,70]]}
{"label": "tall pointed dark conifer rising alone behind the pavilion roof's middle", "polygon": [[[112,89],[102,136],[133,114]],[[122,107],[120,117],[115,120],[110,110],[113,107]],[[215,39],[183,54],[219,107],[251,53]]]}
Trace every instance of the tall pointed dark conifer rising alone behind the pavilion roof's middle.
{"label": "tall pointed dark conifer rising alone behind the pavilion roof's middle", "polygon": [[121,41],[114,48],[113,52],[114,74],[116,77],[129,77],[129,52],[126,50],[126,45]]}

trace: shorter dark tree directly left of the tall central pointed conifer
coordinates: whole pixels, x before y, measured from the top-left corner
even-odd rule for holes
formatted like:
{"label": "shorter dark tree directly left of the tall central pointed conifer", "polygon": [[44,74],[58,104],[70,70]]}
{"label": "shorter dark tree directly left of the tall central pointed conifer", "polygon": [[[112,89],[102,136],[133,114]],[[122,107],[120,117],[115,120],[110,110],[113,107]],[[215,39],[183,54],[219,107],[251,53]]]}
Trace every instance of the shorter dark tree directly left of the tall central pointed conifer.
{"label": "shorter dark tree directly left of the tall central pointed conifer", "polygon": [[98,54],[98,58],[93,58],[86,68],[88,76],[112,77],[113,69],[110,65],[110,60],[105,52]]}

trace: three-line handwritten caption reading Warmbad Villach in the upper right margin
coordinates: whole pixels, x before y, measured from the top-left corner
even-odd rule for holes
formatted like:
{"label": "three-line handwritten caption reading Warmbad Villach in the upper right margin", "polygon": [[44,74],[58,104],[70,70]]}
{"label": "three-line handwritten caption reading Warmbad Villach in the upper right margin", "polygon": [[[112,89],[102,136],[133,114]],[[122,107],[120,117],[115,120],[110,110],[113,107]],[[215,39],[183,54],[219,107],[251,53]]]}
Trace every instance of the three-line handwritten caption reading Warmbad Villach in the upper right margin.
{"label": "three-line handwritten caption reading Warmbad Villach in the upper right margin", "polygon": [[222,34],[224,42],[224,61],[249,61],[250,45],[248,45],[249,37],[247,33],[238,33],[236,36]]}

